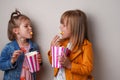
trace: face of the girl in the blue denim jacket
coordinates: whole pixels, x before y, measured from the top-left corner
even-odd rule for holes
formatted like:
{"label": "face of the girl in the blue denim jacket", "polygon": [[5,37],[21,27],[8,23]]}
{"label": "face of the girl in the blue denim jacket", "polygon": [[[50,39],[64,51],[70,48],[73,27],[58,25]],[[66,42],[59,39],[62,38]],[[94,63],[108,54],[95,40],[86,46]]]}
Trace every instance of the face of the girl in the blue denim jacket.
{"label": "face of the girl in the blue denim jacket", "polygon": [[22,20],[18,28],[19,37],[23,39],[31,39],[32,38],[31,32],[32,32],[32,26],[30,20]]}

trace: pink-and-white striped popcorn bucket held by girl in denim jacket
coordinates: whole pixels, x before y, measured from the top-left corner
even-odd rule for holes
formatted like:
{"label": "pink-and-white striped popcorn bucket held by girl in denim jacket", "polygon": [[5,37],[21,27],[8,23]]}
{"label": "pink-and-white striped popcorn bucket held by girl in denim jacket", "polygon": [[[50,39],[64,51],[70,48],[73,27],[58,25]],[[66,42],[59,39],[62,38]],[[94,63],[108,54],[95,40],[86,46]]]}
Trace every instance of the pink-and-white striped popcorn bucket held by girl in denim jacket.
{"label": "pink-and-white striped popcorn bucket held by girl in denim jacket", "polygon": [[37,72],[40,70],[40,65],[37,60],[37,54],[38,54],[37,51],[33,51],[25,54],[25,56],[27,57],[29,71],[31,73]]}

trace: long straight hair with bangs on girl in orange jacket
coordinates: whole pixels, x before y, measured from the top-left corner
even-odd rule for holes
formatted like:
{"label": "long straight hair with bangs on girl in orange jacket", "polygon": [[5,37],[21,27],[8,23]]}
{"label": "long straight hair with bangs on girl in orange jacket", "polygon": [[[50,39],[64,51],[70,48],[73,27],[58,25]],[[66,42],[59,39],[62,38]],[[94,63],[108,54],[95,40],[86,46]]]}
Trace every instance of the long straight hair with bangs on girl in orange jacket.
{"label": "long straight hair with bangs on girl in orange jacket", "polygon": [[[64,23],[66,20],[66,23]],[[60,20],[61,24],[66,24],[71,30],[72,48],[78,46],[81,48],[87,35],[87,17],[81,10],[68,10],[63,13]]]}

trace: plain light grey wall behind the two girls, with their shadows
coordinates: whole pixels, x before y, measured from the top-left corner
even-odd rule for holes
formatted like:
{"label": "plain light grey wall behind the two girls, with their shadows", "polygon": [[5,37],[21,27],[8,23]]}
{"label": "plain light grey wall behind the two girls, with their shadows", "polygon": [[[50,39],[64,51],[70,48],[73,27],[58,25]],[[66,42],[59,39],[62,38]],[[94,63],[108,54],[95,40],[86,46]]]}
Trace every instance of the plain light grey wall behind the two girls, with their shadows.
{"label": "plain light grey wall behind the two girls, with their shadows", "polygon": [[[18,9],[30,17],[34,25],[35,41],[40,46],[43,58],[40,80],[53,80],[53,68],[47,56],[50,41],[59,33],[62,13],[81,9],[88,17],[95,80],[120,80],[119,8],[120,0],[0,0],[0,52],[9,42],[7,25],[10,14]],[[3,72],[0,71],[2,79]]]}

